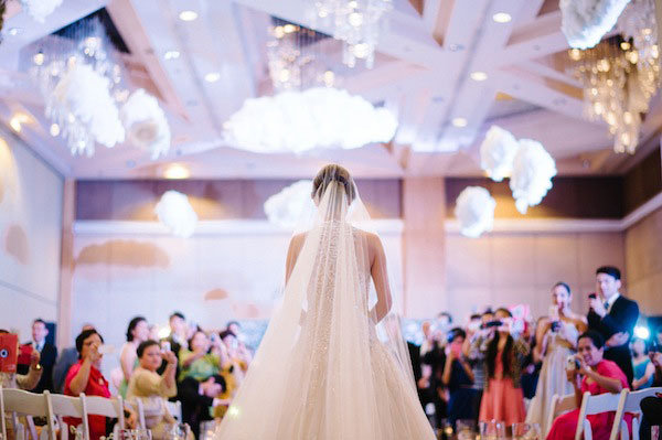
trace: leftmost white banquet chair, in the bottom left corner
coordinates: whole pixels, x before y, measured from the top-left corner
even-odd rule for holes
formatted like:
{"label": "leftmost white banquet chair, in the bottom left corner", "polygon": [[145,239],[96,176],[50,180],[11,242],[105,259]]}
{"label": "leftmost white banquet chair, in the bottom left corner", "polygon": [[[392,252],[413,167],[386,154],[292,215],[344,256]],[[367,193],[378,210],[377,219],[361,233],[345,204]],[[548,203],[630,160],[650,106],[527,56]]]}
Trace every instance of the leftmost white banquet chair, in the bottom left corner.
{"label": "leftmost white banquet chair, in the bottom left corner", "polygon": [[31,437],[38,440],[36,428],[32,422],[32,417],[45,417],[46,426],[44,429],[49,431],[49,440],[55,440],[55,422],[53,419],[53,410],[51,408],[51,401],[49,399],[49,391],[43,394],[34,394],[22,389],[3,388],[2,389],[2,423],[3,432],[7,432],[4,426],[4,412],[11,414],[12,428],[14,433],[19,430],[19,415],[25,416],[28,421],[28,429]]}

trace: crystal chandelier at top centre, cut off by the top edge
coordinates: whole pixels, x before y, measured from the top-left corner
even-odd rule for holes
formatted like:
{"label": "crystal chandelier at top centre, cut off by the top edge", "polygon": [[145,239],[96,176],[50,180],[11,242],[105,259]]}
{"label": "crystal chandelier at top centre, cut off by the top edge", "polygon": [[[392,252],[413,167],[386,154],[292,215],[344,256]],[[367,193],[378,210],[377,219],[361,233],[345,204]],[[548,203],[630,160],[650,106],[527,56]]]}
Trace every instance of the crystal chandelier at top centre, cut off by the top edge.
{"label": "crystal chandelier at top centre, cut off by the top edge", "polygon": [[364,60],[372,68],[382,15],[392,9],[392,0],[314,0],[314,19],[331,24],[333,37],[343,42],[344,64],[354,67]]}

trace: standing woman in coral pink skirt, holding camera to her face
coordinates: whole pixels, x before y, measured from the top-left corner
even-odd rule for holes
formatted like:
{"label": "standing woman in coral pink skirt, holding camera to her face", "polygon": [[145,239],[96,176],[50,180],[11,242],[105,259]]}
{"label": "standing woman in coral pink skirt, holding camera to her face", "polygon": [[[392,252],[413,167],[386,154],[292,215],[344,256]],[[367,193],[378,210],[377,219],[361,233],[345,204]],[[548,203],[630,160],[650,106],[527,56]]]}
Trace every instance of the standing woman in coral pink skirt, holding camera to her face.
{"label": "standing woman in coral pink skirt, holding camera to her face", "polygon": [[479,420],[503,420],[506,425],[523,422],[526,409],[520,378],[523,358],[530,348],[524,340],[513,337],[509,310],[498,309],[494,319],[493,326],[487,329],[491,337],[487,337],[481,347],[485,355],[487,386]]}

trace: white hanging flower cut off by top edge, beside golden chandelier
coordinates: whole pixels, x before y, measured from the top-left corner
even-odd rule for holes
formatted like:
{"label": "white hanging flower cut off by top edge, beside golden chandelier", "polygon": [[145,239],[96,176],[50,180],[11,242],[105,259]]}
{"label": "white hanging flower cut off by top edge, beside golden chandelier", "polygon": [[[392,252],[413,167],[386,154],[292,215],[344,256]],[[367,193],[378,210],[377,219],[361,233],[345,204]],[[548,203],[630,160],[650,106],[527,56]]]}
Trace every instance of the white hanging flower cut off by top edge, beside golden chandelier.
{"label": "white hanging flower cut off by top edge, beside golden chandelier", "polygon": [[570,47],[588,49],[613,28],[630,0],[560,0],[560,30]]}

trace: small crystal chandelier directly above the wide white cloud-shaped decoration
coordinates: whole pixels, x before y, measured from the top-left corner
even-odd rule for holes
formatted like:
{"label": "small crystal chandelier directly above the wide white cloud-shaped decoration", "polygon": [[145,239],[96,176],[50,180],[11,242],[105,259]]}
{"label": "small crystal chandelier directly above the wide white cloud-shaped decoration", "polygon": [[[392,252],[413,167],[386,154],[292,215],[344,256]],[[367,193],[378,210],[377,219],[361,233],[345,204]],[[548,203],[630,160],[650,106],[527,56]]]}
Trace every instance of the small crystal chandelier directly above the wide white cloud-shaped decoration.
{"label": "small crystal chandelier directly above the wide white cloud-shaped decoration", "polygon": [[328,67],[319,45],[329,35],[276,19],[267,43],[269,77],[275,92],[338,86],[338,75]]}

